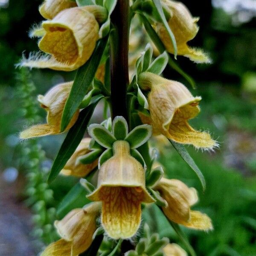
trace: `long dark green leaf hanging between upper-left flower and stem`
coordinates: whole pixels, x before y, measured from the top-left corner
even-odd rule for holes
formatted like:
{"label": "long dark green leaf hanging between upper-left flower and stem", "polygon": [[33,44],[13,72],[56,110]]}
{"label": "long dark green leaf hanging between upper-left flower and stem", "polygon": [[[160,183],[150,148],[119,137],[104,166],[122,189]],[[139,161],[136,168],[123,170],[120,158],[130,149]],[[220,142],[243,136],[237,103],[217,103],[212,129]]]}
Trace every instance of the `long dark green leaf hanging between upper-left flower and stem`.
{"label": "long dark green leaf hanging between upper-left flower and stem", "polygon": [[62,113],[61,131],[64,131],[67,125],[70,123],[70,120],[79,108],[84,96],[88,93],[107,41],[108,38],[99,40],[89,60],[83,66],[81,66],[79,70],[77,70],[70,95]]}

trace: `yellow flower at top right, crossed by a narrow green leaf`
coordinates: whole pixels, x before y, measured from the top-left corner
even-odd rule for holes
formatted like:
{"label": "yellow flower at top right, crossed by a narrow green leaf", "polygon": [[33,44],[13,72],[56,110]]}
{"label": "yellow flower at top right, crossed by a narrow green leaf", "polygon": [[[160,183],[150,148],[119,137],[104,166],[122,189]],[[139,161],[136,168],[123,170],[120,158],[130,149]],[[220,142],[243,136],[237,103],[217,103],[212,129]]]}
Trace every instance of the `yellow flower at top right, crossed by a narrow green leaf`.
{"label": "yellow flower at top right, crossed by a narrow green leaf", "polygon": [[[187,42],[195,38],[198,33],[199,28],[196,23],[199,18],[192,17],[189,10],[181,2],[162,0],[162,3],[170,10],[171,15],[168,24],[176,39],[178,55],[184,55],[197,63],[209,63],[210,59],[201,49],[195,49],[187,45]],[[163,24],[157,23],[155,29],[167,51],[174,54],[172,41]]]}

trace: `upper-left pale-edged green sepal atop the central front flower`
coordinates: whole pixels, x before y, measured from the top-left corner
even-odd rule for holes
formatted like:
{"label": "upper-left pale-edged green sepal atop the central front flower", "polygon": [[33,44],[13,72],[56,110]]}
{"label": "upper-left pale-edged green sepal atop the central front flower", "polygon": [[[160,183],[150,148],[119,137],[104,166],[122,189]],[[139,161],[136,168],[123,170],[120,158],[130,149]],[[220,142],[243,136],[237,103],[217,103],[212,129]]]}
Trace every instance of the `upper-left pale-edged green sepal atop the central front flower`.
{"label": "upper-left pale-edged green sepal atop the central front flower", "polygon": [[113,134],[99,124],[89,125],[88,134],[90,134],[90,137],[96,140],[96,142],[104,148],[112,148],[113,143],[116,141]]}

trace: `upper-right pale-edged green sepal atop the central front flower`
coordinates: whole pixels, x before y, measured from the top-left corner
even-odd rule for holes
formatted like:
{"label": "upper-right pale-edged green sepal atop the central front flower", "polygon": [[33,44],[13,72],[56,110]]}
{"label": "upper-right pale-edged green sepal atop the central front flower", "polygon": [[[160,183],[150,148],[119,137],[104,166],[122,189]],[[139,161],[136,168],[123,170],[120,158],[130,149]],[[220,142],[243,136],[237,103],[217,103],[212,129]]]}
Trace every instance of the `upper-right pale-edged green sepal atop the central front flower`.
{"label": "upper-right pale-edged green sepal atop the central front flower", "polygon": [[147,142],[151,136],[151,125],[139,125],[129,132],[125,137],[125,140],[128,141],[131,148],[138,148]]}

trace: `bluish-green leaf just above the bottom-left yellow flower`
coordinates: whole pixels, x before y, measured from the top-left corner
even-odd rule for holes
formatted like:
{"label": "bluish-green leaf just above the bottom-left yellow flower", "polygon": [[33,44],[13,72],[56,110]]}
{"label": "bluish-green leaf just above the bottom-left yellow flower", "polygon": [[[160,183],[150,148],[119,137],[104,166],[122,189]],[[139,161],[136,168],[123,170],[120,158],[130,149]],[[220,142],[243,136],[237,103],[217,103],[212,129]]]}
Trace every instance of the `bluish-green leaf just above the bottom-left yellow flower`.
{"label": "bluish-green leaf just above the bottom-left yellow flower", "polygon": [[90,201],[87,199],[86,195],[87,192],[80,183],[73,186],[57,207],[58,218],[63,218],[72,209],[81,208],[89,203]]}

